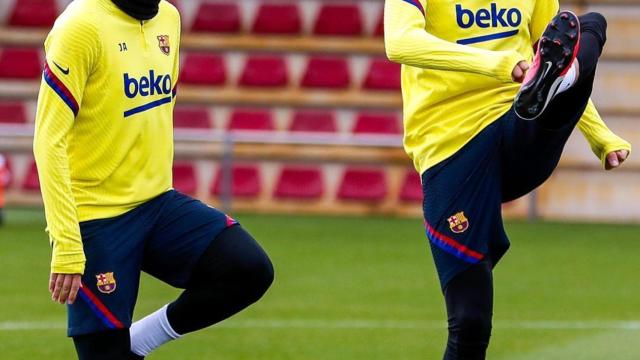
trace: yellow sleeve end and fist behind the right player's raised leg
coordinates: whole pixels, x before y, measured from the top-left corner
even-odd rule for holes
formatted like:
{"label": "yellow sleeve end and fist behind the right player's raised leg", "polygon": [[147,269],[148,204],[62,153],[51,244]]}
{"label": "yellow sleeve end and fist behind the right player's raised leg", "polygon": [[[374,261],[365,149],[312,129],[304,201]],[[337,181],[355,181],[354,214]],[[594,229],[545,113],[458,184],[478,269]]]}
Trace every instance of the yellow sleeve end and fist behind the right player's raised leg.
{"label": "yellow sleeve end and fist behind the right player's raised leg", "polygon": [[591,100],[587,105],[578,128],[591,146],[591,151],[600,159],[604,167],[607,161],[607,154],[617,150],[628,150],[631,152],[631,144],[614,134],[598,114],[595,105]]}

